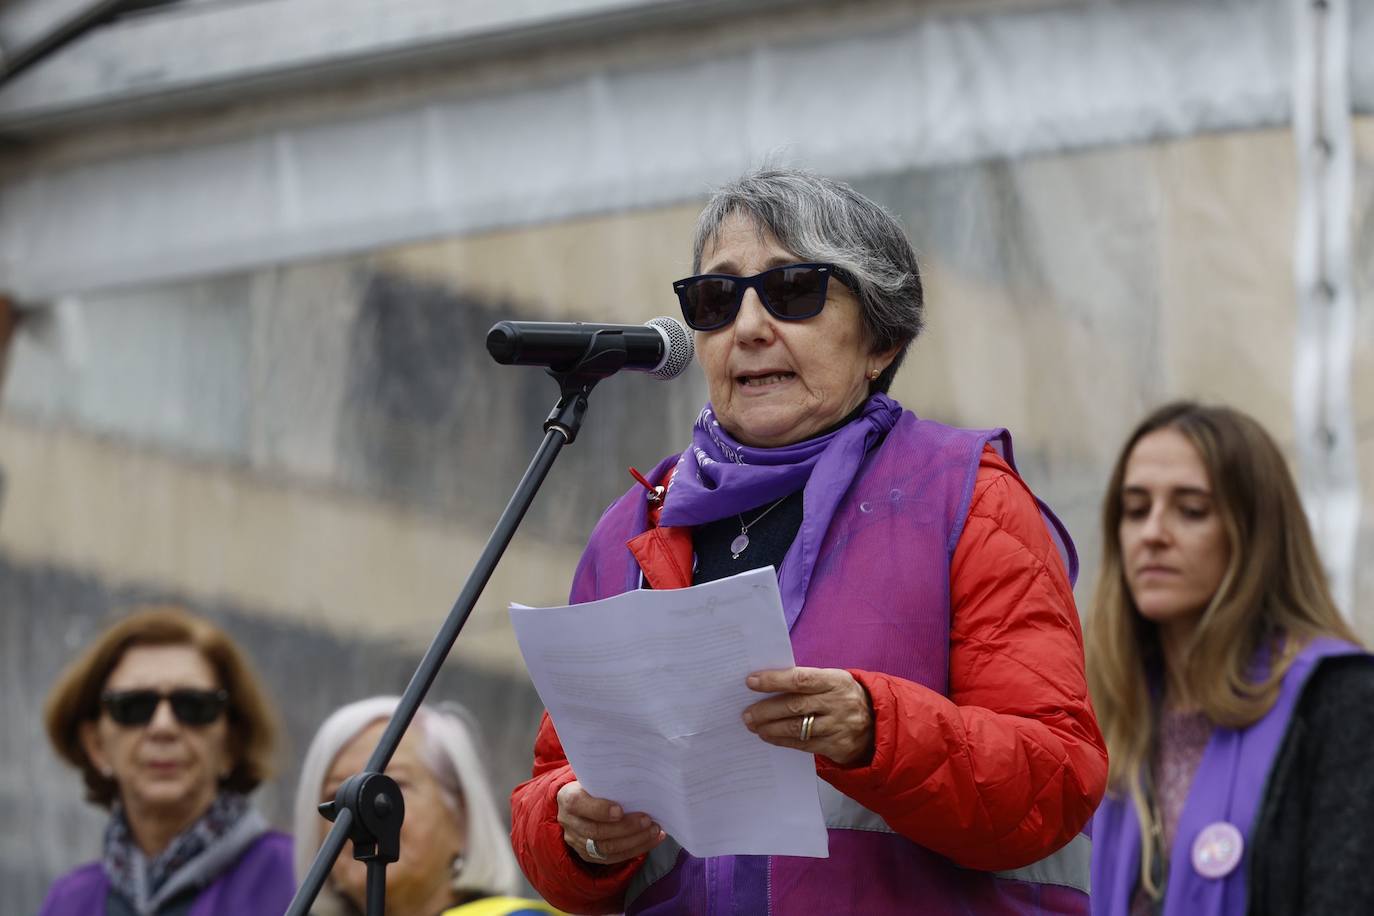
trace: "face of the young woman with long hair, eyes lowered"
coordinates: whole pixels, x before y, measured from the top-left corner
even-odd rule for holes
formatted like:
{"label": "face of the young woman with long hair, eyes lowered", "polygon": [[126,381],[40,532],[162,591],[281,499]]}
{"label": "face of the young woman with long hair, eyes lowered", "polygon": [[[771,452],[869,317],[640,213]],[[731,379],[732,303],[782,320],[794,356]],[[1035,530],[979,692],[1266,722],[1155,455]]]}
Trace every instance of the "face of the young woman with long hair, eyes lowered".
{"label": "face of the young woman with long hair, eyes lowered", "polygon": [[1202,457],[1178,430],[1156,430],[1131,449],[1120,537],[1140,615],[1191,629],[1221,585],[1231,548]]}

